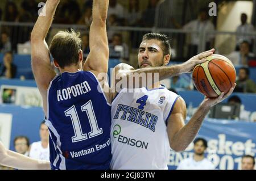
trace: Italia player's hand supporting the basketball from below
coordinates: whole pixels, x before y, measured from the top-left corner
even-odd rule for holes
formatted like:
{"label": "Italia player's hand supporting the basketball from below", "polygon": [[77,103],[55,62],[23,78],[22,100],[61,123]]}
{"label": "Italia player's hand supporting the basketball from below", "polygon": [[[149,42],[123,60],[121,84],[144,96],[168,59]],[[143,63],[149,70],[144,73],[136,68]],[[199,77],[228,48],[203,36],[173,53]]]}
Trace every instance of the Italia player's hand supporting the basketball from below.
{"label": "Italia player's hand supporting the basketball from below", "polygon": [[221,92],[221,95],[218,96],[217,98],[208,98],[207,96],[205,96],[201,106],[211,108],[211,107],[215,106],[216,104],[222,102],[224,99],[228,98],[228,96],[230,96],[233,93],[236,85],[237,84],[235,83],[234,86],[229,90],[229,92],[227,94],[224,94],[224,92]]}

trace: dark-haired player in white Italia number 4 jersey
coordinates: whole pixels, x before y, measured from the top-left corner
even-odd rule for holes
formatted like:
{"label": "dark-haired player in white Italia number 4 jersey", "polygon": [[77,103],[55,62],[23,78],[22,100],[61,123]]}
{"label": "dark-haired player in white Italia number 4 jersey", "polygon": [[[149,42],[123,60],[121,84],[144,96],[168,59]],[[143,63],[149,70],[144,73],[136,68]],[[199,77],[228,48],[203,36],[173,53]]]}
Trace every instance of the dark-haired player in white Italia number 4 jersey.
{"label": "dark-haired player in white Italia number 4 jersey", "polygon": [[[164,79],[191,71],[214,52],[212,49],[184,64],[166,66],[171,57],[168,41],[165,35],[144,35],[139,47],[138,65],[139,68],[148,69],[134,70],[126,64],[118,65],[115,68],[115,80],[112,76],[112,91],[117,88],[116,77],[144,72],[159,73],[159,79]],[[226,95],[222,92],[216,99],[205,98],[185,125],[187,109],[180,96],[168,91],[158,81],[149,87],[133,88],[121,87],[119,93],[113,93],[110,135],[112,169],[168,169],[170,147],[175,151],[185,150],[195,138],[210,107],[227,98],[234,90],[233,87]]]}

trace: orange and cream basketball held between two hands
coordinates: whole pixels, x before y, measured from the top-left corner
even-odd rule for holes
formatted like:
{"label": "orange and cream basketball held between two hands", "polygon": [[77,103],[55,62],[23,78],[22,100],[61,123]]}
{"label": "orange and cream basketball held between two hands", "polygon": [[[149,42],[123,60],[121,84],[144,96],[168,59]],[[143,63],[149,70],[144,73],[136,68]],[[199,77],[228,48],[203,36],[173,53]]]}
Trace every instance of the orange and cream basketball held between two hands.
{"label": "orange and cream basketball held between two hands", "polygon": [[234,86],[236,69],[225,56],[213,54],[207,57],[206,62],[195,66],[193,83],[202,94],[209,98],[216,98],[221,92],[228,93]]}

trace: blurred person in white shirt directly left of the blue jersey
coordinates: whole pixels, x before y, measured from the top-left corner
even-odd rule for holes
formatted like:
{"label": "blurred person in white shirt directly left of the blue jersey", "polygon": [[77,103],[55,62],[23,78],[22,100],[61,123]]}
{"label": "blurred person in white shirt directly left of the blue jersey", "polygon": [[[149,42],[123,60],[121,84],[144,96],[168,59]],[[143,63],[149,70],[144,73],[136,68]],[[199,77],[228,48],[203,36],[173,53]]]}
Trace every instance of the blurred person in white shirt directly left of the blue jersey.
{"label": "blurred person in white shirt directly left of the blue jersey", "polygon": [[40,124],[41,141],[31,144],[30,157],[49,161],[49,132],[45,121]]}

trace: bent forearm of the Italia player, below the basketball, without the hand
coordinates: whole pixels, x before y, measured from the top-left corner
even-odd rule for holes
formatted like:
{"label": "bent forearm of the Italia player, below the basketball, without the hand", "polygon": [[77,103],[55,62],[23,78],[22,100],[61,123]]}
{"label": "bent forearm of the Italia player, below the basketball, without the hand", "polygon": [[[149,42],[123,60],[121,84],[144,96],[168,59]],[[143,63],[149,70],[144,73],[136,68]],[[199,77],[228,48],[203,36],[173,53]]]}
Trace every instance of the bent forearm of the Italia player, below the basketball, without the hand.
{"label": "bent forearm of the Italia player, below the basketball, without the hand", "polygon": [[174,139],[171,141],[172,149],[175,151],[184,151],[188,147],[199,132],[201,124],[208,111],[209,107],[206,107],[203,104],[200,105],[189,122],[175,134]]}

